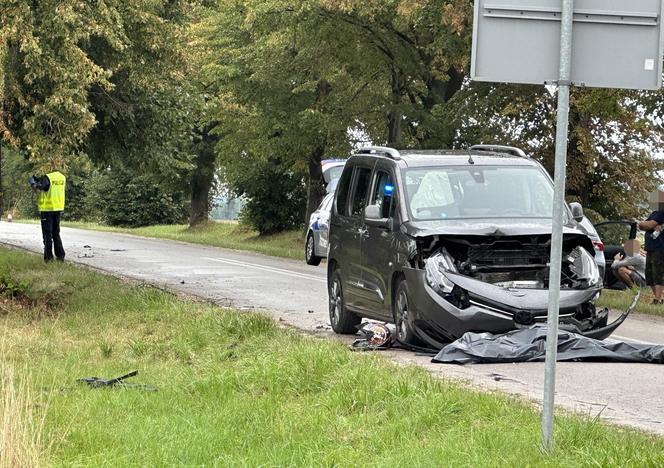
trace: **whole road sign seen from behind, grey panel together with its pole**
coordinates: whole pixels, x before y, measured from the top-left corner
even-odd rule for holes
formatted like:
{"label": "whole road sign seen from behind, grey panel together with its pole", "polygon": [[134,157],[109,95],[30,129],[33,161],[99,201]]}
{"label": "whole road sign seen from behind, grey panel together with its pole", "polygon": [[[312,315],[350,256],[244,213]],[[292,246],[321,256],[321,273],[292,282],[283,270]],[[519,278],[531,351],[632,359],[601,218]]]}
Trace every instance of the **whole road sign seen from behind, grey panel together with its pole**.
{"label": "whole road sign seen from behind, grey panel together with its pole", "polygon": [[558,84],[542,411],[542,443],[547,450],[553,447],[570,85],[661,88],[662,16],[664,0],[475,0],[471,78]]}

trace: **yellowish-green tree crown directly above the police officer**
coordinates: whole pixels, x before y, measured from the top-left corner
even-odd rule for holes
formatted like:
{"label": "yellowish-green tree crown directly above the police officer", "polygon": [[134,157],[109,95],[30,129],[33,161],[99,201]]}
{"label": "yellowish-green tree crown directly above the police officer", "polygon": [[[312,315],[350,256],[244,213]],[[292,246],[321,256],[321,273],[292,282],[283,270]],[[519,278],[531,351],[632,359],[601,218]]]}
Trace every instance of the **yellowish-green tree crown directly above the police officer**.
{"label": "yellowish-green tree crown directly above the police officer", "polygon": [[117,41],[113,15],[75,1],[0,1],[5,139],[46,167],[61,166],[95,125],[87,100],[92,85],[110,89],[110,70],[81,43]]}

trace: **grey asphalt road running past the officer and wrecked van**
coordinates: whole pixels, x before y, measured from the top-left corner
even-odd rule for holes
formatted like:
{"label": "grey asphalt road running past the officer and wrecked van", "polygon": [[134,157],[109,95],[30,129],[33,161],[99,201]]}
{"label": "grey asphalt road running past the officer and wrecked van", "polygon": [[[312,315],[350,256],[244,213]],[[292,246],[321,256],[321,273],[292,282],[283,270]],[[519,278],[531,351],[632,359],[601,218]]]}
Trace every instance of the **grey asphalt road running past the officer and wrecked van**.
{"label": "grey asphalt road running past the officer and wrecked van", "polygon": [[[212,299],[242,310],[262,310],[302,330],[334,335],[327,316],[324,264],[283,260],[181,242],[63,228],[67,260],[111,274]],[[0,223],[0,242],[41,252],[39,226]],[[664,321],[631,316],[613,339],[664,343]],[[343,338],[342,338],[343,339]],[[346,338],[347,339],[347,338]],[[407,351],[385,352],[445,378],[541,401],[543,363],[440,365]],[[664,435],[664,366],[559,363],[556,403],[588,417]]]}

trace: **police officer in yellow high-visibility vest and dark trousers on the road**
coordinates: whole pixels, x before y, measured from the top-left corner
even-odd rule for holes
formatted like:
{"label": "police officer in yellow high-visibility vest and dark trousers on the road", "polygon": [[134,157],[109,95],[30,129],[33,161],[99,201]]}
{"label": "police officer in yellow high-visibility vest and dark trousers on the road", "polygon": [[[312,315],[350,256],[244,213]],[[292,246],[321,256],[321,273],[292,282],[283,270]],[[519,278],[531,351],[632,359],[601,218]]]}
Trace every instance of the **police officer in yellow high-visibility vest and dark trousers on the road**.
{"label": "police officer in yellow high-visibility vest and dark trousers on the road", "polygon": [[60,215],[65,209],[66,178],[61,172],[55,171],[41,177],[30,177],[32,190],[39,193],[37,209],[41,218],[42,236],[44,238],[44,261],[65,259],[65,249],[60,239]]}

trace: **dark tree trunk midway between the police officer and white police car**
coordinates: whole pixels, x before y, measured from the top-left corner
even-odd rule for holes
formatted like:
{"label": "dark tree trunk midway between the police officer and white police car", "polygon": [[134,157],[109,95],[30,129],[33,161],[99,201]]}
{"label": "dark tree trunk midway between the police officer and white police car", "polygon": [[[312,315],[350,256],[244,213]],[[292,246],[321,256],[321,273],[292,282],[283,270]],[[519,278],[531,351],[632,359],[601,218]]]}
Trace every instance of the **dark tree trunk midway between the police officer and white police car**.
{"label": "dark tree trunk midway between the police officer and white police car", "polygon": [[206,130],[196,156],[196,167],[191,176],[191,215],[189,227],[207,221],[210,214],[210,190],[214,181],[216,138]]}

